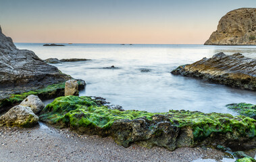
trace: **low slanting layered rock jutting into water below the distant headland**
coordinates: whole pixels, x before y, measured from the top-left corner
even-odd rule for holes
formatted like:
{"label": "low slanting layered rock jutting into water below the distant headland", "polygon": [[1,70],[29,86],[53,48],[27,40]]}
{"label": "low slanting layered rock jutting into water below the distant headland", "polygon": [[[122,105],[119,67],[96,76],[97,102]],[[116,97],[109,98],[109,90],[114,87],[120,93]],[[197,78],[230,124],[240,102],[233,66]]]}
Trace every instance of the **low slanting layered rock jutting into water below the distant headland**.
{"label": "low slanting layered rock jutting into water below the distant headland", "polygon": [[171,73],[256,90],[256,59],[247,58],[240,53],[217,53],[209,59],[203,58],[190,65],[181,65]]}

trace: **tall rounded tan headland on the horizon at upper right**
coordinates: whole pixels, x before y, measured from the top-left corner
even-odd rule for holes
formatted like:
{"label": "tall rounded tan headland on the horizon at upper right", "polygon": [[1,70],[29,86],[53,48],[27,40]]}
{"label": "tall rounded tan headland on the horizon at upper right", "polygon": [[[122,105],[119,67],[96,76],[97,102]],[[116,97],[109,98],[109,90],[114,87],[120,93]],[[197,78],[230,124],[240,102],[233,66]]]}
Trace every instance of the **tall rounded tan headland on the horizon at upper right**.
{"label": "tall rounded tan headland on the horizon at upper right", "polygon": [[228,12],[205,45],[256,45],[256,8]]}

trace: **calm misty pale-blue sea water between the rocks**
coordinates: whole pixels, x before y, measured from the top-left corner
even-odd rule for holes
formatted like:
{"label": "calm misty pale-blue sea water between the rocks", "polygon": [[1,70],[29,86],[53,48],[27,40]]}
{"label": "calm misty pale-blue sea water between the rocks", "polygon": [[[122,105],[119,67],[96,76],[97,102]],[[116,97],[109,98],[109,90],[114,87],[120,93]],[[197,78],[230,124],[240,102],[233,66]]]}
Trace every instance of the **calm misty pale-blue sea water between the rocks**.
{"label": "calm misty pale-blue sea water between the rocks", "polygon": [[[170,74],[178,65],[219,52],[228,55],[239,52],[256,58],[255,46],[66,44],[43,47],[40,43],[16,43],[16,46],[34,51],[41,59],[92,59],[54,65],[63,73],[86,81],[86,89],[80,95],[104,97],[124,109],[151,112],[185,109],[235,115],[226,104],[256,104],[256,92]],[[119,69],[103,69],[111,65]],[[140,72],[142,69],[150,72]]]}

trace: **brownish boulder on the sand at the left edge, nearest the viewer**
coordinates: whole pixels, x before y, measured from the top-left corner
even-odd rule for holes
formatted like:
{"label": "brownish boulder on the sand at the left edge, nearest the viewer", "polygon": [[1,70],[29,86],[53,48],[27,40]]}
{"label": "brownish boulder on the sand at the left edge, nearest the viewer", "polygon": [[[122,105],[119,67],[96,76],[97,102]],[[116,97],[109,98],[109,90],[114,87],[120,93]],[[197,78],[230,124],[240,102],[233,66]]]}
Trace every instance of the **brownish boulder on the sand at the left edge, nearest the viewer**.
{"label": "brownish boulder on the sand at the left edge, nearest the viewer", "polygon": [[0,117],[0,126],[30,128],[36,125],[38,121],[39,117],[33,113],[30,107],[18,105]]}

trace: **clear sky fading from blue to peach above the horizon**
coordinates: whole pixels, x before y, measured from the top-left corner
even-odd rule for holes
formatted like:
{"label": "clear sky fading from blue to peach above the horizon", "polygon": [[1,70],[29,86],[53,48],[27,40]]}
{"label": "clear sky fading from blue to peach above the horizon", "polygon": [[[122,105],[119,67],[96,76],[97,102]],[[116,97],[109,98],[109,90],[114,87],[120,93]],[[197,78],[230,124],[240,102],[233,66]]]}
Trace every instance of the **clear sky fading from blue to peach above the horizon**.
{"label": "clear sky fading from blue to peach above the horizon", "polygon": [[256,0],[0,0],[16,43],[203,44],[228,11]]}

